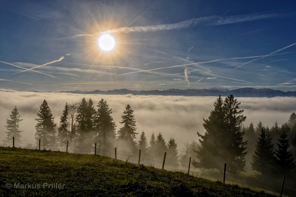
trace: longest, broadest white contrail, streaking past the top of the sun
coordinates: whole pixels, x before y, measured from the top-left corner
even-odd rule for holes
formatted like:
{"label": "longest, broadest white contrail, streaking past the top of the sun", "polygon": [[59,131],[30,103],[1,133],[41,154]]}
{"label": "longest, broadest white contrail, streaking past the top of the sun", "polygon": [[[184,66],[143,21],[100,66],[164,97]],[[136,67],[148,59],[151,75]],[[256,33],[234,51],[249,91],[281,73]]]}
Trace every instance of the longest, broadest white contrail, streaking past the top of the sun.
{"label": "longest, broadest white contrail, streaking past the top of the sun", "polygon": [[[287,15],[287,14],[286,14]],[[242,23],[249,22],[255,20],[269,19],[269,18],[279,18],[284,17],[286,15],[280,13],[273,14],[241,14],[241,15],[232,15],[232,16],[208,16],[208,17],[200,17],[200,18],[191,18],[189,20],[171,23],[171,24],[159,24],[159,25],[150,25],[150,26],[133,26],[133,27],[119,27],[112,30],[107,30],[104,32],[98,32],[95,34],[78,34],[70,37],[62,37],[58,39],[65,38],[76,38],[83,36],[96,36],[98,34],[104,33],[134,33],[134,32],[155,32],[155,31],[164,31],[164,30],[176,30],[176,29],[185,29],[188,27],[193,27],[198,24],[203,24],[207,26],[216,26],[216,25],[226,25],[233,23]]]}

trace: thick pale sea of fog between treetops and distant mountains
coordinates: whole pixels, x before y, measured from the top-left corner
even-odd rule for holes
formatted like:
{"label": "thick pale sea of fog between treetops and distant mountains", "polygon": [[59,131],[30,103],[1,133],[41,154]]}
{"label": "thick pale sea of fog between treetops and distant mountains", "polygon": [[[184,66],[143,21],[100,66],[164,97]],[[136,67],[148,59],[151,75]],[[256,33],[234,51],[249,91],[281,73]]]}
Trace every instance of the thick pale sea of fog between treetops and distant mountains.
{"label": "thick pale sea of fog between treetops and distant mountains", "polygon": [[[0,138],[6,136],[6,119],[14,106],[19,108],[23,119],[20,122],[22,140],[34,141],[36,113],[43,100],[47,100],[49,107],[59,123],[60,116],[66,102],[80,102],[83,97],[92,98],[95,105],[103,98],[112,108],[112,116],[117,130],[122,127],[119,123],[126,104],[134,109],[137,124],[137,141],[140,133],[145,131],[149,141],[152,132],[162,133],[166,142],[170,137],[175,138],[178,148],[182,149],[184,142],[198,140],[197,132],[205,132],[203,118],[208,118],[213,102],[217,97],[184,97],[184,96],[133,96],[133,95],[95,95],[70,93],[35,93],[17,92],[0,89]],[[295,97],[248,98],[238,97],[240,108],[247,116],[245,125],[253,122],[255,125],[261,120],[264,125],[271,127],[277,120],[278,124],[286,122],[292,112],[296,112]]]}

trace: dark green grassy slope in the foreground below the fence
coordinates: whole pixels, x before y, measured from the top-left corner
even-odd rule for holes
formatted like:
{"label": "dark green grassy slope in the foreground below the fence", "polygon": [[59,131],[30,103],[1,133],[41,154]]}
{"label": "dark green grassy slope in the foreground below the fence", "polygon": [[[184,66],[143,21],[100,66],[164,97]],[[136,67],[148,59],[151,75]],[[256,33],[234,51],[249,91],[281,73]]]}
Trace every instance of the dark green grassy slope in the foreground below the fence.
{"label": "dark green grassy slope in the foreground below the fence", "polygon": [[[0,147],[1,196],[275,196],[104,156]],[[6,183],[39,184],[7,189]],[[43,183],[65,184],[64,189]]]}

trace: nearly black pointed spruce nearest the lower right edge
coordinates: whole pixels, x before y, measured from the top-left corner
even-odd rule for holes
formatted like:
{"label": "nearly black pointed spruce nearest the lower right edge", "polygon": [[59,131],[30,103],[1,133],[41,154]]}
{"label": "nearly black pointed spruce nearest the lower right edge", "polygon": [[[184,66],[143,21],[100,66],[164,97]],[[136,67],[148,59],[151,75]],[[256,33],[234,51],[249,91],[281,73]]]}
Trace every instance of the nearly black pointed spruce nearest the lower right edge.
{"label": "nearly black pointed spruce nearest the lower right edge", "polygon": [[288,151],[290,144],[285,130],[280,134],[280,138],[278,139],[278,141],[278,148],[275,150],[275,155],[277,157],[277,167],[281,173],[286,174],[295,169],[296,166],[292,151]]}

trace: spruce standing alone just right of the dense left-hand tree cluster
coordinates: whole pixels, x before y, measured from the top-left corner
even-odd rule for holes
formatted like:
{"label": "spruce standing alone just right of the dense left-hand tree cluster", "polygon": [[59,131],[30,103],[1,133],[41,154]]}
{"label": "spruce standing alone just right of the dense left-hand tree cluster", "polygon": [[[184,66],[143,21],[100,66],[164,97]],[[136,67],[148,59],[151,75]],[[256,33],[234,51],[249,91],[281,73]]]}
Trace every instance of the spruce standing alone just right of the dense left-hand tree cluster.
{"label": "spruce standing alone just right of the dense left-hand tree cluster", "polygon": [[123,127],[118,131],[119,144],[123,145],[124,149],[130,152],[134,152],[137,148],[137,143],[134,141],[136,138],[136,120],[133,115],[134,110],[127,104],[123,115],[121,116],[121,124]]}

